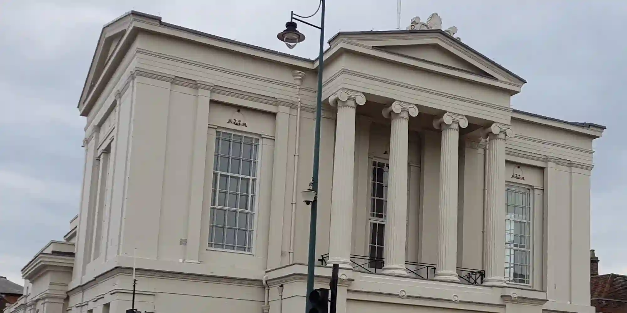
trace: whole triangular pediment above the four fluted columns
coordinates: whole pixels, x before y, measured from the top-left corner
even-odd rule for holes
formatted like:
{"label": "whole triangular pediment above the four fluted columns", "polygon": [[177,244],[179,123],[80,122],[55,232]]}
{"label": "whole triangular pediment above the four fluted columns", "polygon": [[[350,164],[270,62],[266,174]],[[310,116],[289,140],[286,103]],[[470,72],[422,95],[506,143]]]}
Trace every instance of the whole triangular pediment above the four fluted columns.
{"label": "whole triangular pediment above the four fluted columns", "polygon": [[344,32],[335,35],[329,43],[332,47],[340,43],[355,44],[507,85],[520,87],[526,83],[524,79],[441,29]]}

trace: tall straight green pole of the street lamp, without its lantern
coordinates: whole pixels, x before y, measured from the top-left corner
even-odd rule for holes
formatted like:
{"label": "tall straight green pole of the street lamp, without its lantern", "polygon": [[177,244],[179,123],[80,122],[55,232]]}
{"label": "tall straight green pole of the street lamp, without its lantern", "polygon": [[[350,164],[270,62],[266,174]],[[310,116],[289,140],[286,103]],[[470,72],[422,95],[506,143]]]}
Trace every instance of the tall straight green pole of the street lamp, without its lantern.
{"label": "tall straight green pole of the street lamp, without its lantern", "polygon": [[[322,116],[322,69],[324,63],[324,7],[325,0],[320,0],[322,13],[320,17],[320,53],[318,56],[318,95],[315,109],[315,140],[314,140],[314,171],[312,173],[312,190],[315,192],[314,202],[311,206],[309,220],[309,258],[307,261],[307,296],[314,290],[315,271],[315,237],[316,222],[318,218],[318,172],[320,165],[320,118]],[[309,312],[311,304],[306,301],[305,313]]]}

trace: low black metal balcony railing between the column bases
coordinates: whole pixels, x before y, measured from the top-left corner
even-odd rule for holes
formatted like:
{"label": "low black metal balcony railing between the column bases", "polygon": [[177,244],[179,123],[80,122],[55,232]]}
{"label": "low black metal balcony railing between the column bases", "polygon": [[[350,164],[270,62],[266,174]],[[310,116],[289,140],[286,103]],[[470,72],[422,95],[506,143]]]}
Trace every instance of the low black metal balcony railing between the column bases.
{"label": "low black metal balcony railing between the column bases", "polygon": [[[320,264],[327,265],[329,254],[320,256]],[[350,255],[353,270],[367,273],[381,273],[385,264],[383,258],[368,257],[365,255]],[[435,276],[435,264],[427,264],[420,262],[405,262],[405,268],[409,275],[413,275],[419,279],[433,279]],[[485,272],[483,270],[466,269],[458,267],[457,274],[460,276],[460,282],[463,284],[481,285]]]}

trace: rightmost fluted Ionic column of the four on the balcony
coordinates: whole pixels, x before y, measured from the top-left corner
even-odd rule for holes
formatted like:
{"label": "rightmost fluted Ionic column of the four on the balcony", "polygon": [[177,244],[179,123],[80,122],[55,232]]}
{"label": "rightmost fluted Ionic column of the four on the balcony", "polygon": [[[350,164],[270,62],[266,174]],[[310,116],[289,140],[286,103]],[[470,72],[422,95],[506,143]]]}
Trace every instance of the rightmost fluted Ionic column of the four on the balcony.
{"label": "rightmost fluted Ionic column of the four on the balcony", "polygon": [[505,286],[505,139],[514,136],[509,125],[494,123],[488,136],[487,207],[483,285]]}

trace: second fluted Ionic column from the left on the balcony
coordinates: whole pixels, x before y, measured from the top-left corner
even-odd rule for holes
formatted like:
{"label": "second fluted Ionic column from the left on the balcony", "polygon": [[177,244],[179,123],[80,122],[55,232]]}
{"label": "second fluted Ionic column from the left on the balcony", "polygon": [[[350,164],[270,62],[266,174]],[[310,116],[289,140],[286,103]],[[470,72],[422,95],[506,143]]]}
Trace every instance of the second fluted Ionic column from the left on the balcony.
{"label": "second fluted Ionic column from the left on the balcony", "polygon": [[415,105],[394,101],[382,113],[384,117],[392,119],[383,274],[406,275],[409,116],[417,116],[418,108]]}

